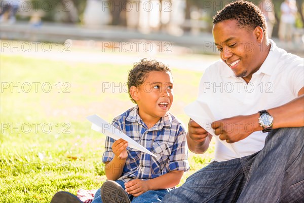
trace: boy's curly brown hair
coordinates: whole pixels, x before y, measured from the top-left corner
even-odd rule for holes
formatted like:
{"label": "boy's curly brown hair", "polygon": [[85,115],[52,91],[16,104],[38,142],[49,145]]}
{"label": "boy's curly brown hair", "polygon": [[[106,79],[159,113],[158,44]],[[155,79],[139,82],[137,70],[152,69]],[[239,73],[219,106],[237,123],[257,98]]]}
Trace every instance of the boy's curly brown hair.
{"label": "boy's curly brown hair", "polygon": [[148,74],[153,71],[171,73],[171,70],[168,66],[157,60],[147,60],[146,58],[144,58],[141,59],[139,62],[133,64],[133,69],[131,69],[128,74],[128,93],[133,103],[136,104],[136,101],[132,98],[130,94],[130,88],[132,86],[139,87],[144,82],[146,77],[148,77]]}

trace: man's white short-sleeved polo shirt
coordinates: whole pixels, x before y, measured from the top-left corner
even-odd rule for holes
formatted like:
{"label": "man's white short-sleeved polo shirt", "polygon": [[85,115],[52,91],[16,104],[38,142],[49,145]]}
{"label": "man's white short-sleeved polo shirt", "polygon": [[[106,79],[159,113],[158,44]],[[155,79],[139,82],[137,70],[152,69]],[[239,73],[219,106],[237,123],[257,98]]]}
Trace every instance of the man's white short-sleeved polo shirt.
{"label": "man's white short-sleeved polo shirt", "polygon": [[[199,87],[198,100],[207,103],[216,120],[237,115],[251,115],[288,103],[297,97],[304,86],[303,58],[287,53],[271,41],[270,53],[260,69],[247,84],[222,60],[205,71]],[[256,121],[258,122],[258,121]],[[249,130],[252,125],[246,127]],[[256,131],[234,147],[240,155],[248,156],[264,146],[267,133]],[[236,154],[216,141],[215,159],[225,161],[238,158]]]}

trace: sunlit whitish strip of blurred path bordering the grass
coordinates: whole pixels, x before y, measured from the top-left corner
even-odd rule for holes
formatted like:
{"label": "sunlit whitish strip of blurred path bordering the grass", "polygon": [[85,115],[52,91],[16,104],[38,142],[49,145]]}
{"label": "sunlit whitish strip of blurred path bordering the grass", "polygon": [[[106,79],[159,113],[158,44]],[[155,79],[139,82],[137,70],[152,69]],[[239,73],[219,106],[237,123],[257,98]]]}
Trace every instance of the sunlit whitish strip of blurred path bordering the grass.
{"label": "sunlit whitish strip of blurred path bordering the grass", "polygon": [[[130,65],[138,62],[142,58],[156,59],[171,68],[194,70],[204,72],[207,66],[219,59],[218,55],[193,54],[187,53],[182,47],[171,46],[170,52],[130,52],[124,51],[103,51],[95,45],[90,45],[83,41],[68,41],[72,45],[69,47],[59,47],[51,43],[28,43],[23,41],[0,41],[2,44],[1,54],[3,55],[21,55],[24,57],[44,58],[57,61],[66,61],[70,63],[84,62],[90,63],[110,63],[118,65]],[[79,44],[82,44],[81,46]],[[36,46],[36,50],[35,47]],[[48,50],[43,50],[42,47]],[[19,48],[21,47],[21,48]],[[23,48],[22,48],[23,47]],[[29,49],[28,47],[31,47]],[[0,57],[1,58],[1,57]]]}

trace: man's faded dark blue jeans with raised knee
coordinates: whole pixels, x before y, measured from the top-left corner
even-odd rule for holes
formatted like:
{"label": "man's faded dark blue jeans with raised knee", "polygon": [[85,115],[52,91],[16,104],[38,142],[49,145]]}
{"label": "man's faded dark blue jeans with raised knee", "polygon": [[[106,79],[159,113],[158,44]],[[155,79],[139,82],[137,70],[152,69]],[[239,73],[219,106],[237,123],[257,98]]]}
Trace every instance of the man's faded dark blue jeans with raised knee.
{"label": "man's faded dark blue jeans with raised knee", "polygon": [[250,156],[212,162],[163,202],[304,202],[304,127],[272,130]]}

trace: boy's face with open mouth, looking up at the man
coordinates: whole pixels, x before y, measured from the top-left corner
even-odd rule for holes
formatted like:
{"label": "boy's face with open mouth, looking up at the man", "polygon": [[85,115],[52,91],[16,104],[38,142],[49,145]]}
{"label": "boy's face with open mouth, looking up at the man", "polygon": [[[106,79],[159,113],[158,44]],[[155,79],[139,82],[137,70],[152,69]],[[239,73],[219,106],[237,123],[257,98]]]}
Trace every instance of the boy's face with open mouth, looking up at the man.
{"label": "boy's face with open mouth, looking up at the man", "polygon": [[143,84],[137,88],[137,99],[135,99],[139,107],[139,115],[145,123],[149,120],[158,121],[169,111],[173,102],[172,88],[173,80],[170,72],[148,73]]}

